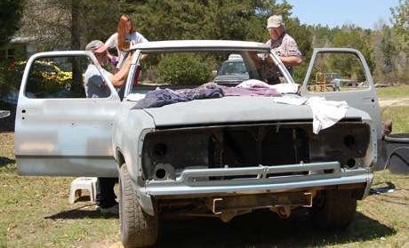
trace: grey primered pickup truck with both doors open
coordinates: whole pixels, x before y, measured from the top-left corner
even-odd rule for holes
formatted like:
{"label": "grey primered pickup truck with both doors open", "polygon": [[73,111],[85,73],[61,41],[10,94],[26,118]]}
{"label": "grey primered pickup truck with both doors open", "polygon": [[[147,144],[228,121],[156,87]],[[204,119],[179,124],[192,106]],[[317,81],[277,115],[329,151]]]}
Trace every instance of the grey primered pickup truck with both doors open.
{"label": "grey primered pickup truck with both doors open", "polygon": [[[20,175],[119,177],[125,247],[156,244],[158,218],[164,216],[229,222],[262,209],[286,218],[293,209],[306,208],[318,228],[349,227],[357,200],[371,188],[381,140],[381,112],[361,52],[316,49],[304,82],[296,84],[277,55],[261,43],[158,41],[130,51],[136,54],[124,88],[116,92],[102,75],[111,93],[100,99],[69,94],[48,98],[50,92],[36,85],[44,82],[30,79],[36,60],[66,61],[67,67],[74,58],[80,65],[89,60],[97,64],[92,52],[31,56],[15,124]],[[140,60],[143,54],[160,64],[182,52],[200,60],[210,75],[214,61],[220,67],[229,54],[240,54],[249,80],[229,87],[192,75],[180,85],[164,80],[132,84],[137,65],[148,63]],[[265,83],[249,55],[253,52],[275,61],[283,84]],[[322,61],[345,54],[357,61],[366,87],[309,91],[316,84],[313,72],[324,69]],[[192,73],[188,66],[175,69]],[[63,85],[64,91],[72,90],[70,86]]]}

